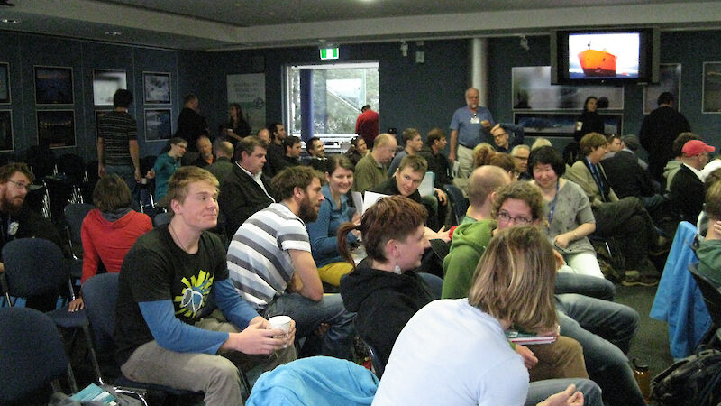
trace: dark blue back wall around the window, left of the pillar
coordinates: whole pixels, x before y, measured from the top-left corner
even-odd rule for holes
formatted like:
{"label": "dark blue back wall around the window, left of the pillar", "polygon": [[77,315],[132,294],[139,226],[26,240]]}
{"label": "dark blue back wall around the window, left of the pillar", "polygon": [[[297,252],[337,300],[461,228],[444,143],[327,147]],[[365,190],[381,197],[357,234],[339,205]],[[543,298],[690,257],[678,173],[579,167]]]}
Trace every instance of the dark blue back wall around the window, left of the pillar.
{"label": "dark blue back wall around the window, left of the pillar", "polygon": [[[396,127],[418,128],[422,134],[435,126],[446,128],[451,123],[453,110],[464,103],[463,91],[467,87],[466,41],[424,42],[425,63],[415,63],[415,42],[408,42],[408,57],[403,57],[400,42],[344,45],[340,59],[329,63],[348,61],[379,62],[380,129]],[[268,122],[285,122],[282,106],[283,67],[321,63],[317,48],[287,48],[259,51],[233,51],[214,55],[218,74],[214,80],[215,97],[220,106],[227,100],[225,77],[236,73],[253,73],[257,70],[253,60],[264,59],[266,73],[266,115]],[[375,107],[375,106],[374,106]],[[216,122],[226,119],[225,110],[218,108]],[[360,113],[360,112],[359,112]]]}

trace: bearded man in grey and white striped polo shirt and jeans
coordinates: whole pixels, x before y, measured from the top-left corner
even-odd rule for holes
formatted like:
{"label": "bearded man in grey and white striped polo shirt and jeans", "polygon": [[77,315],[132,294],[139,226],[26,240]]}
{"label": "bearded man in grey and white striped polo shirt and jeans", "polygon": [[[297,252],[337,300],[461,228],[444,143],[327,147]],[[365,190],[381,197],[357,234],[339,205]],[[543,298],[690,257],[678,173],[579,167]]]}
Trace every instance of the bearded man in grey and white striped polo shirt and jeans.
{"label": "bearded man in grey and white striped polo shirt and jeans", "polygon": [[306,223],[315,221],[324,200],[323,174],[294,166],[273,178],[278,203],[246,220],[228,249],[228,270],[236,290],[265,318],[296,320],[296,337],[312,339],[320,328],[320,353],[351,358],[353,314],[338,294],[324,295],[311,255]]}

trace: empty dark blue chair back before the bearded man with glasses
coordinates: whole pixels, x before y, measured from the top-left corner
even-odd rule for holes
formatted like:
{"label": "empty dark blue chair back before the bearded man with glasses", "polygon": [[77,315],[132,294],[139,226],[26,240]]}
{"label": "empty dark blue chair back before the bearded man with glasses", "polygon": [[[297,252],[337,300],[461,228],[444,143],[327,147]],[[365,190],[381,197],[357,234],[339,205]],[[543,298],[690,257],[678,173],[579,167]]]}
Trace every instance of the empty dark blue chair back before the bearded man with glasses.
{"label": "empty dark blue chair back before the bearded man with glasses", "polygon": [[57,291],[68,281],[68,263],[58,245],[42,238],[19,238],[3,246],[7,293],[26,298]]}

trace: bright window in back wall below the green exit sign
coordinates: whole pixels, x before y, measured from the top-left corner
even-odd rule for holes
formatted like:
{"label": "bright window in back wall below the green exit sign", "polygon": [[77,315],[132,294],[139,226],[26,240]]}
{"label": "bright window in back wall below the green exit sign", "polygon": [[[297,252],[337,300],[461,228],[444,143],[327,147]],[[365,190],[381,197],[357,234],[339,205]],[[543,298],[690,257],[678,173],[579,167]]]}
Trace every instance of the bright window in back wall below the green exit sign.
{"label": "bright window in back wall below the green exit sign", "polygon": [[[347,138],[355,134],[360,107],[370,105],[379,111],[378,62],[289,66],[286,78],[289,134],[310,137],[303,131],[303,114],[312,112],[312,124],[306,125],[312,125],[313,135]],[[301,97],[306,82],[311,92]]]}

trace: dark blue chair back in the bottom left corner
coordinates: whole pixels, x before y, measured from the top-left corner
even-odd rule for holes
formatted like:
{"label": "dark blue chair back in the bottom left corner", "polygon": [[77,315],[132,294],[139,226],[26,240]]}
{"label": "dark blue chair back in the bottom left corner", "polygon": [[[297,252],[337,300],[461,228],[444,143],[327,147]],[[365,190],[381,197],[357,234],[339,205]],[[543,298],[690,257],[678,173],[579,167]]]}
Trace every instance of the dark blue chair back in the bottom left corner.
{"label": "dark blue chair back in the bottom left corner", "polygon": [[0,404],[21,401],[68,371],[58,329],[41,311],[0,308],[0,344]]}

